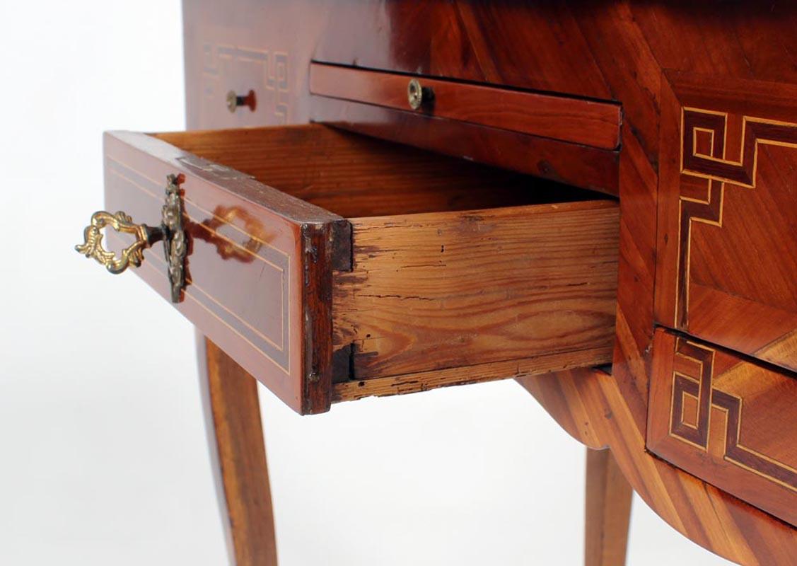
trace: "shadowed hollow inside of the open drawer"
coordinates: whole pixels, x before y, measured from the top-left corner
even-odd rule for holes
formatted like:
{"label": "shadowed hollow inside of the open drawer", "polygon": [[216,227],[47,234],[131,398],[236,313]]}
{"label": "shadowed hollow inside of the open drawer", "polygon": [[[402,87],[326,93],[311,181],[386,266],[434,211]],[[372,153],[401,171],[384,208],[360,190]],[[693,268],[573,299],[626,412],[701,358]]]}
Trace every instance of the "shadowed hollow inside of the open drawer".
{"label": "shadowed hollow inside of the open drawer", "polygon": [[318,124],[154,136],[344,218],[610,198]]}

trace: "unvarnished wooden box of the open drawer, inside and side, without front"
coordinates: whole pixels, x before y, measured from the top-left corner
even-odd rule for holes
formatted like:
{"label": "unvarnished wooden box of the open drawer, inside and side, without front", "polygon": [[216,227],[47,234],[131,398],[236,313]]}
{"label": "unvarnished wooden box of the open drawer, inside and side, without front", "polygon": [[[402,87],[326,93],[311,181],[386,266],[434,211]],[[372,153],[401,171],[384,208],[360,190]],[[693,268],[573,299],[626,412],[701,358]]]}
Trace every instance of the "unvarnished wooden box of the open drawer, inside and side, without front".
{"label": "unvarnished wooden box of the open drawer, inside and side, without front", "polygon": [[347,219],[332,401],[611,362],[611,197],[320,124],[153,136]]}

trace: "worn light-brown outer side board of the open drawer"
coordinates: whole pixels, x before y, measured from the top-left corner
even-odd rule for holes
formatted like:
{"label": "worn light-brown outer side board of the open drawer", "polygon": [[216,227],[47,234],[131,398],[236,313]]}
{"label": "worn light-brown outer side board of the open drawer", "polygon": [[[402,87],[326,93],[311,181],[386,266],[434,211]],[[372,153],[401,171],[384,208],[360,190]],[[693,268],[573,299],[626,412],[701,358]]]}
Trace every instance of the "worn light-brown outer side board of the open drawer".
{"label": "worn light-brown outer side board of the open drawer", "polygon": [[608,362],[617,212],[603,200],[352,218],[332,303],[350,379],[579,350]]}

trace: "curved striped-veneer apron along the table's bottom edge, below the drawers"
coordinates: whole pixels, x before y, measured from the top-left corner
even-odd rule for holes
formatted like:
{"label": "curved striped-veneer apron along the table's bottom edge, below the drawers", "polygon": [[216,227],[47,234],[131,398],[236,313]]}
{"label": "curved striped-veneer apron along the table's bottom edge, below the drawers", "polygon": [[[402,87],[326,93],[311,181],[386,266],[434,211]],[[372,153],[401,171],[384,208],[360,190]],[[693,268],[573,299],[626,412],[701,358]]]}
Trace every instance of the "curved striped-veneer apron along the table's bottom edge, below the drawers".
{"label": "curved striped-veneer apron along the table's bottom edge, below the drawers", "polygon": [[639,426],[603,371],[580,369],[518,380],[576,440],[609,448],[630,486],[673,529],[739,564],[797,564],[797,531],[645,450]]}

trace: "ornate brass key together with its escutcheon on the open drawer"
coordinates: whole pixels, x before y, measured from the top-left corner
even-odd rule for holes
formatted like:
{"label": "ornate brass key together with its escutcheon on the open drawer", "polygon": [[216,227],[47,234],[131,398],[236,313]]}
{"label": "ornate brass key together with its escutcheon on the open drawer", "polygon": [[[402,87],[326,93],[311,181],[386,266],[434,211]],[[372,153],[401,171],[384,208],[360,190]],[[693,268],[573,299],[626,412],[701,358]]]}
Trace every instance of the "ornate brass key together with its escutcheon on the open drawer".
{"label": "ornate brass key together with its escutcheon on the open drawer", "polygon": [[[180,291],[185,285],[185,259],[188,253],[186,231],[183,229],[183,200],[180,198],[180,183],[185,181],[181,175],[167,177],[166,200],[161,209],[160,226],[135,224],[124,211],[111,214],[100,210],[92,214],[91,223],[83,230],[84,242],[75,246],[78,253],[85,257],[93,257],[111,273],[122,273],[128,266],[139,267],[144,259],[143,251],[155,242],[163,241],[166,256],[168,277],[171,284],[171,301],[180,301]],[[116,257],[112,251],[102,246],[104,227],[110,226],[117,232],[133,234],[135,242]]]}

